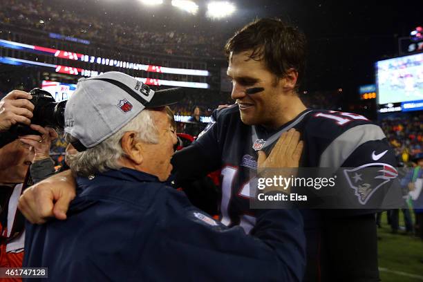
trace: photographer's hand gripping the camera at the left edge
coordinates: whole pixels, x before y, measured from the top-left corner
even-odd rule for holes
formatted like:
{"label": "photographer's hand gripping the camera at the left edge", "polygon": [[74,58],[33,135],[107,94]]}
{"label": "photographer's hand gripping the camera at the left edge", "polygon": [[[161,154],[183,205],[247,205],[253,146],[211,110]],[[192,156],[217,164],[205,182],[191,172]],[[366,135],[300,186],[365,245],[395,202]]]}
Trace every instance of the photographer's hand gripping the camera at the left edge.
{"label": "photographer's hand gripping the camera at the left edge", "polygon": [[10,126],[17,124],[30,124],[34,104],[29,100],[29,93],[14,90],[0,101],[0,132],[8,131]]}

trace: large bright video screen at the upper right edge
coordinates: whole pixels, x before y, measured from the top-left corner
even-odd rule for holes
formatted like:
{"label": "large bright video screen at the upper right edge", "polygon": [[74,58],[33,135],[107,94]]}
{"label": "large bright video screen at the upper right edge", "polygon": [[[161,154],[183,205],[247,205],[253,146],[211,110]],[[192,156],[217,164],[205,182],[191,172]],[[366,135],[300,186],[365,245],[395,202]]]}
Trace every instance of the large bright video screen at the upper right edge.
{"label": "large bright video screen at the upper right edge", "polygon": [[401,103],[402,111],[420,108],[418,105],[423,102],[423,53],[379,61],[376,73],[377,104]]}

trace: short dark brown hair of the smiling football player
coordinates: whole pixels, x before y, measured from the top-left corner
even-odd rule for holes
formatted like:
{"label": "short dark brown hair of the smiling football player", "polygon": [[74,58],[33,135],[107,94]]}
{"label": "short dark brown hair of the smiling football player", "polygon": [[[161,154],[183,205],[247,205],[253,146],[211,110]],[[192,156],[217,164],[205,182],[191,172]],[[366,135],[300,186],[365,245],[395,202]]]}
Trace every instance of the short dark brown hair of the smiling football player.
{"label": "short dark brown hair of the smiling football player", "polygon": [[[252,50],[251,59],[263,59],[269,71],[281,78],[294,68],[303,75],[306,65],[306,37],[297,28],[281,19],[256,19],[238,30],[227,41],[225,54],[229,62],[231,53]],[[296,91],[299,82],[296,85]]]}

